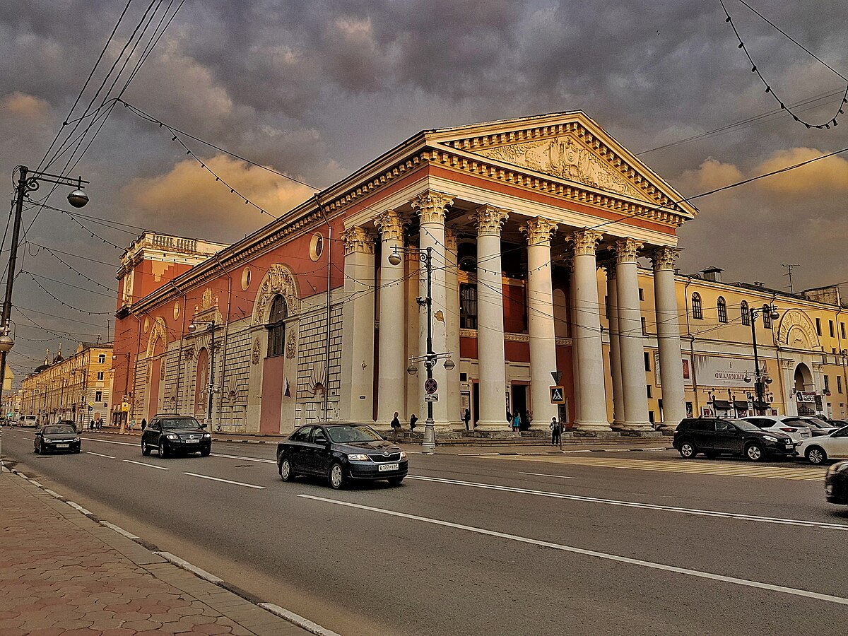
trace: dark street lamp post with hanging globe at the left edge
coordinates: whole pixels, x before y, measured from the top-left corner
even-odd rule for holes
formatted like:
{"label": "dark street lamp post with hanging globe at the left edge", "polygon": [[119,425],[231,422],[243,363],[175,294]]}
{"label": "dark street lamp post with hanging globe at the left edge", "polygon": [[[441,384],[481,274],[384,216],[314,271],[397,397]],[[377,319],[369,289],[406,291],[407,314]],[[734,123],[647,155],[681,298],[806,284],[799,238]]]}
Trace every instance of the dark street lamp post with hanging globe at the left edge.
{"label": "dark street lamp post with hanging globe at the left edge", "polygon": [[68,195],[68,203],[81,208],[88,203],[88,195],[82,192],[82,184],[88,183],[82,178],[71,179],[67,176],[50,175],[47,172],[30,172],[25,165],[19,167],[18,183],[14,189],[14,224],[12,225],[12,243],[9,243],[8,269],[6,270],[6,298],[3,300],[3,316],[0,320],[0,404],[3,403],[3,382],[6,379],[6,355],[12,349],[14,340],[9,338],[8,324],[12,314],[12,286],[14,284],[15,265],[18,259],[18,241],[20,240],[20,220],[24,214],[24,198],[28,192],[37,190],[40,181],[58,183],[60,186],[75,187]]}

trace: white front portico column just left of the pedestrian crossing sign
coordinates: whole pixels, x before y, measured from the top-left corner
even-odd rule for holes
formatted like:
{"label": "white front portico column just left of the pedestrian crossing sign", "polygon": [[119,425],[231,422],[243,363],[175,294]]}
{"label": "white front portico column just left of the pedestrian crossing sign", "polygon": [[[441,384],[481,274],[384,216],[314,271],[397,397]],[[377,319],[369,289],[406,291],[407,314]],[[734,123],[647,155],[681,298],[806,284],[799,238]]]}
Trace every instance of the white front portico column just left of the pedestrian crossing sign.
{"label": "white front portico column just left of the pedestrian crossing sign", "polygon": [[550,237],[556,222],[537,217],[527,220],[527,326],[530,333],[530,405],[533,421],[540,427],[556,417],[557,406],[550,403],[551,373],[556,366],[554,329],[554,286],[551,282]]}

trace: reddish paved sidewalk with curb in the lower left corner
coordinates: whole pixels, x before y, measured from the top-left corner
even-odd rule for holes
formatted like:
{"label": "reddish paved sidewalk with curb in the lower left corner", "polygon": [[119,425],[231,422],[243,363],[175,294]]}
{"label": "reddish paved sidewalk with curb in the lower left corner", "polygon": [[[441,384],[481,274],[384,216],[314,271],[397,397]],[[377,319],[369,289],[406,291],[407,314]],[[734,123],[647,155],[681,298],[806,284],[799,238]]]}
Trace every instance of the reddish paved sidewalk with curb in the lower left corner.
{"label": "reddish paved sidewalk with curb in the lower left corner", "polygon": [[309,631],[297,627],[279,616],[282,608],[259,607],[206,572],[201,576],[211,580],[187,572],[174,565],[176,557],[149,550],[8,470],[0,473],[0,501],[3,636],[332,634],[308,622]]}

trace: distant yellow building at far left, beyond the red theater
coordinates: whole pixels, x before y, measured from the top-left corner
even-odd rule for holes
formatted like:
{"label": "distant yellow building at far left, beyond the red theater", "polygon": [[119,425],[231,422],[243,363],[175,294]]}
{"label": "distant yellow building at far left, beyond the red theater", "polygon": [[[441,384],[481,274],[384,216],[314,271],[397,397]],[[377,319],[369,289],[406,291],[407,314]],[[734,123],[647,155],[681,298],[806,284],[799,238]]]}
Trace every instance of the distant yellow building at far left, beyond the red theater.
{"label": "distant yellow building at far left, beyond the red theater", "polygon": [[78,426],[100,416],[109,419],[112,397],[112,345],[80,343],[75,354],[61,350],[24,378],[20,415],[34,415],[39,424],[72,420]]}

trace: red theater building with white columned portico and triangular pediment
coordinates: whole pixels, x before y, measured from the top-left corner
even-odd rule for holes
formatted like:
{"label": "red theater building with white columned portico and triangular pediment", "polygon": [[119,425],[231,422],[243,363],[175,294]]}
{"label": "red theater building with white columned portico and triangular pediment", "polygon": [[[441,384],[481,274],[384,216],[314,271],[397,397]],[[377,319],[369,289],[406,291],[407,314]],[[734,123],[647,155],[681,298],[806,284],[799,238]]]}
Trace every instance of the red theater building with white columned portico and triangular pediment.
{"label": "red theater building with white columned portico and triangular pediment", "polygon": [[[465,431],[466,409],[488,434],[507,432],[515,412],[525,426],[557,416],[585,432],[676,424],[722,399],[726,387],[696,377],[720,366],[706,358],[751,357],[750,325],[728,323],[722,333],[738,342],[725,346],[719,330],[691,324],[718,306],[713,286],[727,287],[675,271],[677,229],[696,214],[580,111],[423,131],[144,295],[126,293],[148,267],[128,250],[114,338],[114,364],[128,373],[120,397],[137,420],[191,413],[229,432],[339,419],[388,427],[395,411],[423,421],[427,400],[440,436]],[[176,240],[139,241],[155,237]],[[822,393],[823,365],[835,360],[814,349],[809,323],[791,321],[778,330],[782,348],[759,334],[787,412],[789,390]],[[799,380],[800,365],[809,374]]]}

